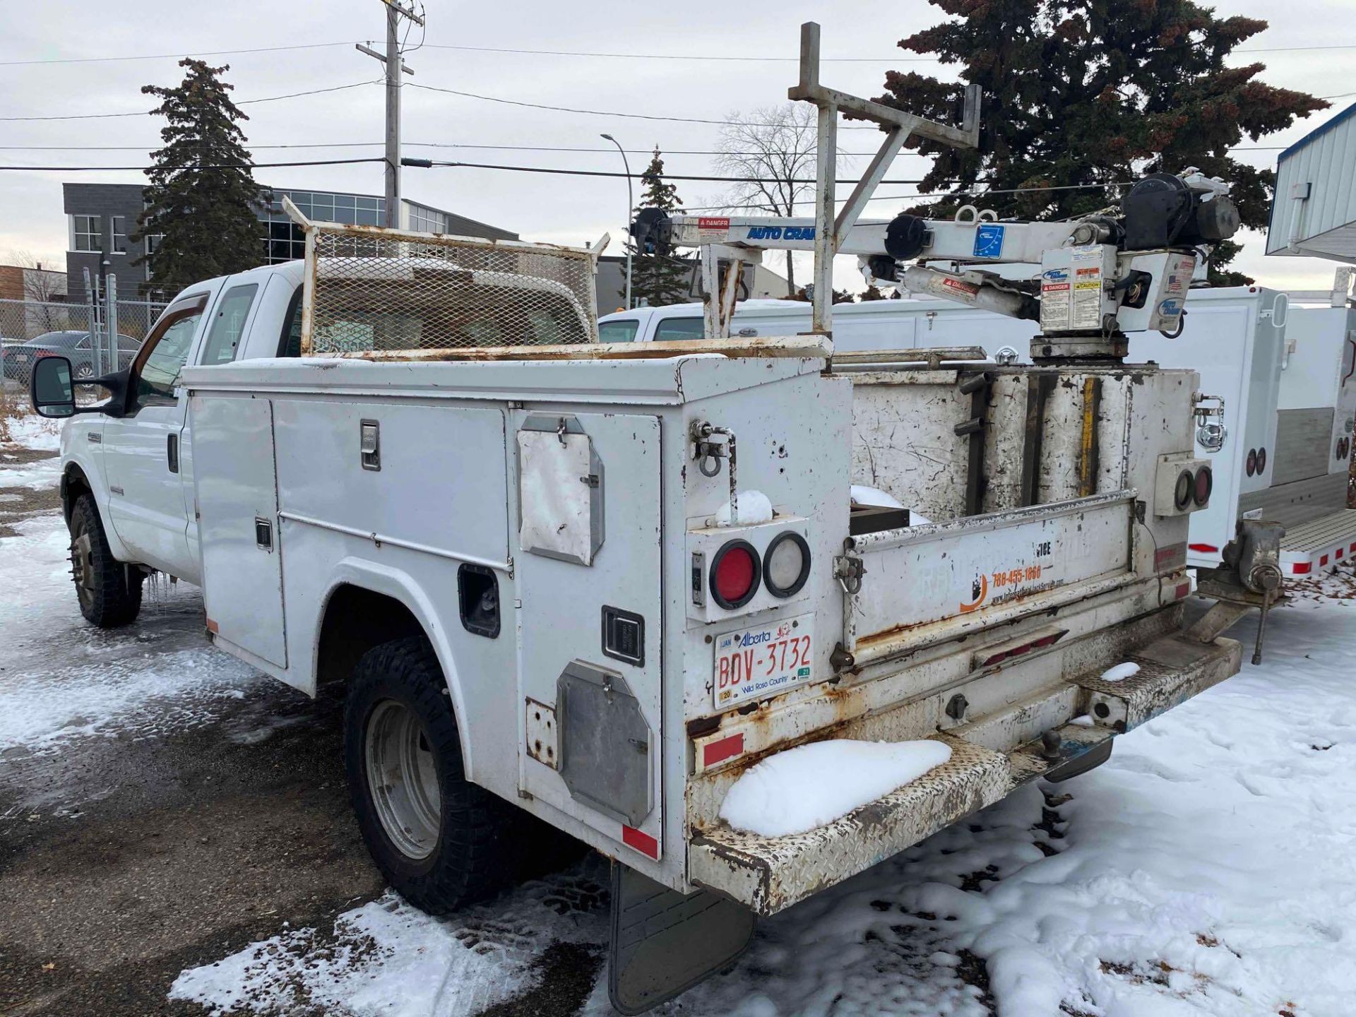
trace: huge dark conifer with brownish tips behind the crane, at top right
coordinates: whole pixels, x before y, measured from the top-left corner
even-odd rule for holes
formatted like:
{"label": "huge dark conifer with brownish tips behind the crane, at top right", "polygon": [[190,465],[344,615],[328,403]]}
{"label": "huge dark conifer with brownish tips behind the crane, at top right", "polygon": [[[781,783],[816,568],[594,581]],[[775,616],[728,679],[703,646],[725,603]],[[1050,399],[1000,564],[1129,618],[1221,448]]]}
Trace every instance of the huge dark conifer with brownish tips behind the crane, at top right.
{"label": "huge dark conifer with brownish tips behind the crane, at top right", "polygon": [[[1120,188],[1090,186],[1146,172],[1197,167],[1234,184],[1245,226],[1265,228],[1275,174],[1230,157],[1243,136],[1260,138],[1328,107],[1304,92],[1258,80],[1262,64],[1224,58],[1267,28],[1256,18],[1216,18],[1191,0],[929,0],[946,20],[902,39],[911,53],[957,65],[960,81],[888,72],[877,102],[955,122],[965,83],[984,89],[978,151],[922,141],[936,156],[921,191],[948,199],[948,214],[975,202],[999,217],[1059,220],[1112,203]],[[1018,194],[986,194],[1012,188]],[[1211,278],[1238,252],[1224,244]]]}

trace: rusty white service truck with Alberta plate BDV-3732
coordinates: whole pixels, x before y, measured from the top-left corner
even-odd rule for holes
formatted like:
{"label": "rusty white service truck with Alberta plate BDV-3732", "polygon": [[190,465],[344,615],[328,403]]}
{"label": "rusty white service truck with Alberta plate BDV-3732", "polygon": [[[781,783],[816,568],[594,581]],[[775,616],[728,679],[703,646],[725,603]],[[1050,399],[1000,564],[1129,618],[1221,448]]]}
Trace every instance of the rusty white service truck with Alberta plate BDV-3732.
{"label": "rusty white service truck with Alberta plate BDV-3732", "polygon": [[[793,98],[842,106],[805,33]],[[974,144],[978,103],[956,130],[853,102]],[[1173,194],[1197,221],[1223,201]],[[624,1013],[728,964],[757,915],[1096,766],[1239,667],[1220,633],[1246,606],[1184,628],[1211,495],[1197,378],[1117,355],[1117,323],[1149,321],[1112,283],[1135,266],[1170,290],[1195,241],[1058,245],[1105,273],[1111,317],[997,365],[731,339],[734,287],[708,339],[598,343],[597,250],[304,225],[302,264],[190,287],[98,382],[108,403],[77,407],[69,363],[39,362],[39,412],[79,414],[81,609],[129,621],[167,571],[202,583],[217,645],[308,693],[346,682],[359,826],[420,907],[494,892],[546,829],[613,858]],[[854,499],[861,464],[932,522]],[[1267,537],[1233,559],[1264,606]],[[829,739],[949,758],[801,833],[721,816],[759,761]]]}

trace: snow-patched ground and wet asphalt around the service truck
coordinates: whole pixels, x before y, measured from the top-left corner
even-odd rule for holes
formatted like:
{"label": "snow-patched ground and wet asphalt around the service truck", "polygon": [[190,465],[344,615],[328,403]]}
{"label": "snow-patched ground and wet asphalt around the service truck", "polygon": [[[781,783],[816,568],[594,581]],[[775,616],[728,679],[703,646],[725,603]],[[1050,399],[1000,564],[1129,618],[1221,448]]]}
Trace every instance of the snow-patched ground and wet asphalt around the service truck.
{"label": "snow-patched ground and wet asphalt around the service truck", "polygon": [[[31,461],[7,465],[0,449],[0,495],[14,490],[7,471],[33,469]],[[202,645],[193,591],[164,590],[144,622],[94,633],[73,607],[60,518],[49,507],[8,525],[14,536],[0,538],[0,792],[9,797],[0,800],[11,805],[0,810],[0,876],[14,887],[3,846],[30,815],[79,816],[88,800],[115,789],[88,770],[76,782],[49,767],[41,789],[20,781],[7,792],[7,763],[23,770],[73,761],[89,746],[164,746],[136,757],[149,767],[163,765],[186,731],[250,742],[287,720],[256,713],[248,724],[222,725],[270,686]],[[1233,635],[1250,639],[1252,631],[1241,625]],[[277,744],[237,746],[229,758],[247,761]],[[290,759],[278,754],[270,765],[285,773]],[[250,776],[245,789],[259,793],[258,780]],[[241,808],[259,810],[256,824],[287,801],[306,805],[306,786],[279,786],[285,797],[240,799]],[[325,822],[348,823],[342,795],[323,793],[335,811]],[[91,808],[62,822],[92,823]],[[203,843],[209,833],[232,835],[214,818],[184,815]],[[287,815],[281,826],[300,822]],[[50,845],[66,835],[26,850],[56,850]],[[305,838],[293,850],[306,850]],[[228,848],[210,862],[221,868],[216,883],[248,888],[258,880],[259,900],[277,900],[305,872],[260,879],[263,862],[244,861],[251,842]],[[271,842],[260,850],[281,853]],[[320,864],[306,856],[308,868]],[[186,865],[157,879],[178,879]],[[41,890],[50,866],[30,868]],[[351,884],[354,872],[335,881]],[[194,940],[184,960],[157,968],[168,974],[151,989],[167,991],[161,999],[175,1013],[598,1017],[609,1013],[605,884],[603,866],[589,861],[445,921],[389,894],[348,910],[283,902],[275,918],[232,917],[225,932]],[[103,906],[84,902],[71,907]],[[137,902],[113,903],[121,911]],[[138,934],[182,934],[164,918],[172,904],[149,914],[149,932]],[[102,928],[87,933],[95,946]],[[42,936],[24,932],[23,942]],[[1273,613],[1262,667],[1245,664],[1241,675],[1117,739],[1098,770],[1029,788],[763,922],[734,972],[660,1013],[1349,1017],[1353,945],[1356,578],[1348,571],[1310,583],[1294,606]],[[551,1002],[565,998],[583,1002]]]}

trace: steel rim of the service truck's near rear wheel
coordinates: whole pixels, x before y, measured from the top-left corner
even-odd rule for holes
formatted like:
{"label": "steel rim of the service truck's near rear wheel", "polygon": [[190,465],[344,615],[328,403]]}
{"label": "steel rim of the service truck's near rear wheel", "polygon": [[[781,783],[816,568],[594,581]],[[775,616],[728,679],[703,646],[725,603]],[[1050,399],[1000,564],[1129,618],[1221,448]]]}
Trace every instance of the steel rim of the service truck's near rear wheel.
{"label": "steel rim of the service truck's near rear wheel", "polygon": [[414,711],[382,700],[363,735],[367,789],[386,837],[408,858],[427,858],[438,845],[442,795],[438,767]]}

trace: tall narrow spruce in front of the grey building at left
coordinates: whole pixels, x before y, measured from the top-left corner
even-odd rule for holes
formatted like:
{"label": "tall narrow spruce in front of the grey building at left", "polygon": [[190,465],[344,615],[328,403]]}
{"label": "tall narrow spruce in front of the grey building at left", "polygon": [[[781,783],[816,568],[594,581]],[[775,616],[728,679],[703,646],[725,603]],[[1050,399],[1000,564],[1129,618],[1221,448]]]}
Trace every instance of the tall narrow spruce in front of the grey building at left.
{"label": "tall narrow spruce in front of the grey building at left", "polygon": [[264,252],[258,212],[268,201],[254,180],[237,126],[250,118],[231,102],[232,85],[220,77],[231,68],[191,58],[179,66],[186,72],[176,88],[141,88],[160,99],[151,114],[168,123],[160,129],[164,148],[152,156],[146,206],[130,237],[137,244],[157,239],[151,255],[133,264],[148,264],[146,287],[167,294],[258,266]]}

